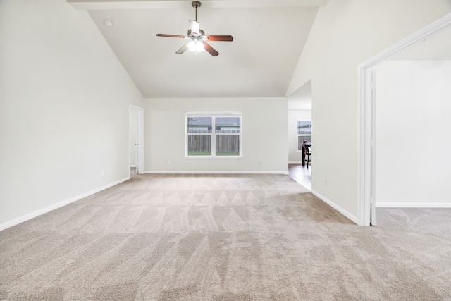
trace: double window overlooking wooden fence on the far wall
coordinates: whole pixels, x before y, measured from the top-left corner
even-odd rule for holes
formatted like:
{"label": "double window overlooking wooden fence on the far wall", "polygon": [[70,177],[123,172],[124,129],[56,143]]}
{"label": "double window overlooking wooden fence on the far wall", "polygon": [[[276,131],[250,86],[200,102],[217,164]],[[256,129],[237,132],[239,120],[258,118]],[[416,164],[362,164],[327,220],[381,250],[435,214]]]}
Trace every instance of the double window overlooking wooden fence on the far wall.
{"label": "double window overlooking wooden fence on the far wall", "polygon": [[241,156],[241,113],[187,112],[186,155]]}

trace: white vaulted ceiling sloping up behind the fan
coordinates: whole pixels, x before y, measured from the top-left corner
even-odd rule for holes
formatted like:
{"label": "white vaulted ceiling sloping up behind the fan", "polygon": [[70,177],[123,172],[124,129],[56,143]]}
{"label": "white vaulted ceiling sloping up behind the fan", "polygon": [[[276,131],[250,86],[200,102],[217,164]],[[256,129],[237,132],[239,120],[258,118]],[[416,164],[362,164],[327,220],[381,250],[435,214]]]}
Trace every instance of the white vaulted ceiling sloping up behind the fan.
{"label": "white vaulted ceiling sloping up behind the fan", "polygon": [[[204,0],[198,10],[206,51],[175,54],[195,18],[192,1],[68,0],[85,9],[143,97],[285,97],[319,6],[328,0]],[[104,20],[111,20],[108,27]]]}

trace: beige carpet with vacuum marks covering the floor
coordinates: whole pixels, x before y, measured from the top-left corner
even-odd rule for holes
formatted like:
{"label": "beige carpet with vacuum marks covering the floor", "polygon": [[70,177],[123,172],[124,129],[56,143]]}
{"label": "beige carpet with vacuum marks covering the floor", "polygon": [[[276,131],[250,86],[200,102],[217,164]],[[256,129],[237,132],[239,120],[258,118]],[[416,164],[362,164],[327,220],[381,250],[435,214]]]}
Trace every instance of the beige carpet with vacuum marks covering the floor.
{"label": "beige carpet with vacuum marks covering the floor", "polygon": [[282,175],[144,175],[0,232],[0,300],[451,300],[450,209],[359,227]]}

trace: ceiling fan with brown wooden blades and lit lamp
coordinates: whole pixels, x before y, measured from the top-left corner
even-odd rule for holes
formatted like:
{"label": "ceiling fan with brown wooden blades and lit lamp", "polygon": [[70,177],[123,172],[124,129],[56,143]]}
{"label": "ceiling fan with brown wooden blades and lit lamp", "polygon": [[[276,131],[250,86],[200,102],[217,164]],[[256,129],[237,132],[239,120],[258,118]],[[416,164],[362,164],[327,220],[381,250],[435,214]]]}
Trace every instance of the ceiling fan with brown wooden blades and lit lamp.
{"label": "ceiling fan with brown wooden blades and lit lamp", "polygon": [[197,22],[197,8],[201,6],[199,1],[192,1],[192,7],[196,9],[196,20],[190,20],[190,30],[188,30],[187,36],[184,35],[166,35],[159,33],[157,37],[178,37],[183,39],[190,39],[182,48],[176,51],[176,54],[183,54],[186,49],[191,51],[203,51],[206,50],[212,56],[219,54],[213,47],[211,47],[206,41],[228,41],[232,42],[233,37],[231,35],[205,35],[204,30],[199,29],[199,23]]}

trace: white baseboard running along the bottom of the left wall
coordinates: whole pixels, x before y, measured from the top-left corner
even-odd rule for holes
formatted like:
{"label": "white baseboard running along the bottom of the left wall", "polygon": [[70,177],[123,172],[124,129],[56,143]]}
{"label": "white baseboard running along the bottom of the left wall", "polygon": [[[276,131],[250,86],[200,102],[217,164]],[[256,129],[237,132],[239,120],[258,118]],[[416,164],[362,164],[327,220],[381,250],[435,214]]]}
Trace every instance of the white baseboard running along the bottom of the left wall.
{"label": "white baseboard running along the bottom of the left wall", "polygon": [[44,208],[39,209],[37,211],[30,212],[29,214],[25,214],[23,216],[19,216],[18,218],[12,219],[11,221],[6,221],[4,223],[0,223],[0,231],[5,230],[6,228],[10,228],[12,226],[16,226],[19,223],[23,223],[24,221],[28,221],[29,219],[34,219],[35,217],[37,217],[39,215],[46,214],[49,211],[61,208],[63,206],[66,206],[67,204],[70,204],[70,203],[73,203],[75,201],[78,201],[79,199],[82,199],[84,197],[89,197],[89,195],[94,195],[94,193],[101,192],[102,190],[106,190],[107,188],[111,188],[111,187],[113,187],[115,185],[118,185],[120,183],[125,182],[126,180],[130,180],[130,176],[127,177],[127,178],[123,178],[121,180],[117,180],[116,182],[109,183],[109,184],[104,185],[104,186],[102,186],[100,188],[96,188],[94,190],[82,193],[81,195],[77,195],[75,197],[71,197],[70,199],[66,199],[66,200],[64,200],[62,202],[58,202],[56,204],[52,204],[52,205],[50,205],[48,207],[44,207]]}

